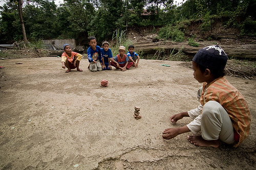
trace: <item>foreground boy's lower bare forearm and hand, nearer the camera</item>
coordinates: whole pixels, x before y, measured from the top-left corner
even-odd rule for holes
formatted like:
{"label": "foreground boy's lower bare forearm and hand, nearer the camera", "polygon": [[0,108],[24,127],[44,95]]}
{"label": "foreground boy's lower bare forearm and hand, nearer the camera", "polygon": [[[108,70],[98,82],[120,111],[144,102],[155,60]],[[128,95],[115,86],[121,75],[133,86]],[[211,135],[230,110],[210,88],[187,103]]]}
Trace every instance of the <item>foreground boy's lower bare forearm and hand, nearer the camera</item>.
{"label": "foreground boy's lower bare forearm and hand, nearer the camera", "polygon": [[179,134],[190,132],[190,130],[187,128],[187,126],[183,126],[181,128],[168,128],[163,130],[162,137],[164,139],[172,139],[176,137]]}

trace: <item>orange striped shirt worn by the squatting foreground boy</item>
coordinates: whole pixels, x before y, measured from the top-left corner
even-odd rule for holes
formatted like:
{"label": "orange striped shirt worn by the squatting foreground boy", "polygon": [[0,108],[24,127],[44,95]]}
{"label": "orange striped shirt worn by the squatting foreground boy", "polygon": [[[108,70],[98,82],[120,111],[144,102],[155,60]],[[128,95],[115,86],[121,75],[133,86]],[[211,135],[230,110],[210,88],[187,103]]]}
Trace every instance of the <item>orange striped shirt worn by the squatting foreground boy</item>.
{"label": "orange striped shirt worn by the squatting foreground boy", "polygon": [[237,147],[249,134],[251,115],[248,105],[242,94],[231,85],[225,77],[218,78],[207,84],[203,83],[203,91],[200,99],[201,105],[208,101],[216,101],[222,105],[232,120],[234,130],[240,136]]}

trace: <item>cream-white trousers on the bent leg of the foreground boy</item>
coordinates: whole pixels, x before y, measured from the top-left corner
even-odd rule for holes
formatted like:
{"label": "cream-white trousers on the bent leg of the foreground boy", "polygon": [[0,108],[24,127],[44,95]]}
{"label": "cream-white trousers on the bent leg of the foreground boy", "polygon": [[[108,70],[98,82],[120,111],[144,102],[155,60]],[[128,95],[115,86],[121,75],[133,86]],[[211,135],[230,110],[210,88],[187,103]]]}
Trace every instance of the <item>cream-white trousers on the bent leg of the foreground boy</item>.
{"label": "cream-white trousers on the bent leg of the foreground boy", "polygon": [[201,132],[205,140],[217,140],[233,144],[234,131],[226,110],[216,101],[209,101],[203,106]]}

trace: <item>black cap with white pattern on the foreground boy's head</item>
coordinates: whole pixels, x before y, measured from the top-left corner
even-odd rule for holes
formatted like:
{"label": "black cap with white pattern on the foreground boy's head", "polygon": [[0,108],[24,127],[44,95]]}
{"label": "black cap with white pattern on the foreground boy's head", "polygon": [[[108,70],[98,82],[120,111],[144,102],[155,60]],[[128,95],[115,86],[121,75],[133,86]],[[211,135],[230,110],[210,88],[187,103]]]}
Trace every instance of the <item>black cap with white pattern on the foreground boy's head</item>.
{"label": "black cap with white pattern on the foreground boy's head", "polygon": [[200,49],[194,56],[193,61],[206,68],[224,70],[227,59],[226,53],[219,45],[211,45]]}

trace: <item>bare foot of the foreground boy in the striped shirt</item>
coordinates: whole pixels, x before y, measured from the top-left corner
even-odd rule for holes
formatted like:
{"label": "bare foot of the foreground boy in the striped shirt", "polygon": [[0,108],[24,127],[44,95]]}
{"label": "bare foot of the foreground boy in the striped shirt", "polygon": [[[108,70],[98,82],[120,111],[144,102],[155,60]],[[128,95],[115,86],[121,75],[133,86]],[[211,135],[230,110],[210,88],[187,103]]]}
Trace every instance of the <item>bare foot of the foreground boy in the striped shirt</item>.
{"label": "bare foot of the foreground boy in the striped shirt", "polygon": [[205,140],[202,138],[202,136],[187,136],[187,140],[192,143],[195,144],[199,147],[214,147],[214,148],[218,148],[220,146],[220,142],[219,140]]}

